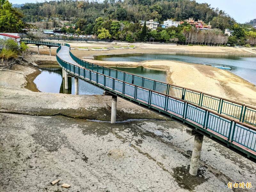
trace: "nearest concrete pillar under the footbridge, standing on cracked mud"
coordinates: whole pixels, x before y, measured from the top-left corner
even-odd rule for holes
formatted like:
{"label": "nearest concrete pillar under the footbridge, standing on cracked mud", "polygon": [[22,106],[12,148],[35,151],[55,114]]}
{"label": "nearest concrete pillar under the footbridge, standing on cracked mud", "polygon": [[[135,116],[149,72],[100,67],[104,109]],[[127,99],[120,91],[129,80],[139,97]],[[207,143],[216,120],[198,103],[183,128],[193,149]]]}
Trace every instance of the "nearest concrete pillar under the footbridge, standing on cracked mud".
{"label": "nearest concrete pillar under the footbridge, standing on cracked mud", "polygon": [[202,144],[204,140],[204,135],[197,133],[195,135],[194,140],[194,148],[191,156],[191,162],[190,162],[190,168],[189,173],[190,175],[196,176],[197,170],[199,167],[199,160],[200,160],[200,154],[202,149]]}

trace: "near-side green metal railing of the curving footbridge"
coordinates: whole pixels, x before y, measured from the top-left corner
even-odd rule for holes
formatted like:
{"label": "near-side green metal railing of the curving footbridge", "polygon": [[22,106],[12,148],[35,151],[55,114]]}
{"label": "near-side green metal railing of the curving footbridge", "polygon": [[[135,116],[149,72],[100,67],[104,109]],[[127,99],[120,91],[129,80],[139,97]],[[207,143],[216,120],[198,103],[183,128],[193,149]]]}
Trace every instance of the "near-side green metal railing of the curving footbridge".
{"label": "near-side green metal railing of the curving footbridge", "polygon": [[[60,66],[73,76],[81,78],[101,89],[112,92],[113,94],[126,98],[144,107],[154,109],[166,116],[190,124],[211,137],[225,142],[227,146],[233,146],[234,148],[243,151],[247,156],[256,159],[255,153],[252,152],[256,152],[256,129],[251,125],[241,123],[227,116],[218,114],[217,112],[210,111],[195,103],[157,92],[137,84],[129,83],[127,81],[133,80],[132,82],[134,82],[134,77],[131,77],[130,74],[128,74],[127,79],[122,77],[125,81],[119,79],[120,76],[125,74],[124,72],[123,74],[120,73],[119,76],[117,75],[113,77],[114,71],[110,68],[97,66],[98,71],[95,71],[94,64],[87,64],[87,67],[90,67],[91,69],[82,66],[79,67],[61,60],[58,55],[57,61]],[[107,74],[104,74],[102,71]],[[117,73],[117,71],[115,72]],[[156,83],[154,82],[154,84]],[[220,105],[220,100],[216,100],[217,101],[214,101],[216,104],[212,104],[211,108],[214,108],[212,106]]]}

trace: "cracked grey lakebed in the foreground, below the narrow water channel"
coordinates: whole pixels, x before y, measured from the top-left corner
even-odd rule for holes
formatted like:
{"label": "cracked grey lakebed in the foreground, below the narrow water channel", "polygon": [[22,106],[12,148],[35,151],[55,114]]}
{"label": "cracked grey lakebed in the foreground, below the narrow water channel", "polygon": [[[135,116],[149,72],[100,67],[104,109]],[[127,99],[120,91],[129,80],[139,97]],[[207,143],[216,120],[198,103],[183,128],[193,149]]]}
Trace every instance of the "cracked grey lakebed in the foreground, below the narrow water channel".
{"label": "cracked grey lakebed in the foreground, below the narrow water channel", "polygon": [[175,122],[8,113],[0,119],[3,192],[66,191],[62,183],[70,192],[228,192],[228,182],[256,183],[254,163],[206,137],[198,175],[189,175],[193,138]]}

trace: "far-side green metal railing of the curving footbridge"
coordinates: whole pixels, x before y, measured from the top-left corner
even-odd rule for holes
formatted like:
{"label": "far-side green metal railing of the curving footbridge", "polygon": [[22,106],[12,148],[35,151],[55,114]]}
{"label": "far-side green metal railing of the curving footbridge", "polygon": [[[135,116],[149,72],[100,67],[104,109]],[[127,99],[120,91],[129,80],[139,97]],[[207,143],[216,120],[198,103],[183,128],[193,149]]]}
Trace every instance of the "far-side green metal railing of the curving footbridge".
{"label": "far-side green metal railing of the curving footbridge", "polygon": [[172,84],[166,84],[164,82],[137,76],[116,69],[103,67],[81,60],[76,57],[72,52],[69,52],[69,54],[76,63],[83,66],[84,68],[108,75],[110,77],[114,77],[127,83],[135,84],[143,88],[151,89],[178,99],[194,103],[200,107],[211,109],[219,114],[224,114],[238,119],[241,122],[256,125],[256,111],[253,110],[252,107],[247,106],[246,113],[243,113],[245,112],[245,105],[242,103],[220,98],[204,92],[198,92],[193,89],[188,89]]}

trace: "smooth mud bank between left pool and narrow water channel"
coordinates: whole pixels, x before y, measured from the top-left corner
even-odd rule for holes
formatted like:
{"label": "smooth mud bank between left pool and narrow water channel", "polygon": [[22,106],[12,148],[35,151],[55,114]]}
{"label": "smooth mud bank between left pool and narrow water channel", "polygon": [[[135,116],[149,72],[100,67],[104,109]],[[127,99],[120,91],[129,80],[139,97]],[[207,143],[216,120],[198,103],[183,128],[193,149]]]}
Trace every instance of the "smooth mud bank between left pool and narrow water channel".
{"label": "smooth mud bank between left pool and narrow water channel", "polygon": [[[13,72],[0,72],[0,112],[110,120],[110,96],[32,92],[26,89],[29,87],[37,91],[32,82],[37,71],[38,69],[17,65]],[[118,98],[117,121],[136,118],[165,119],[163,116]]]}

